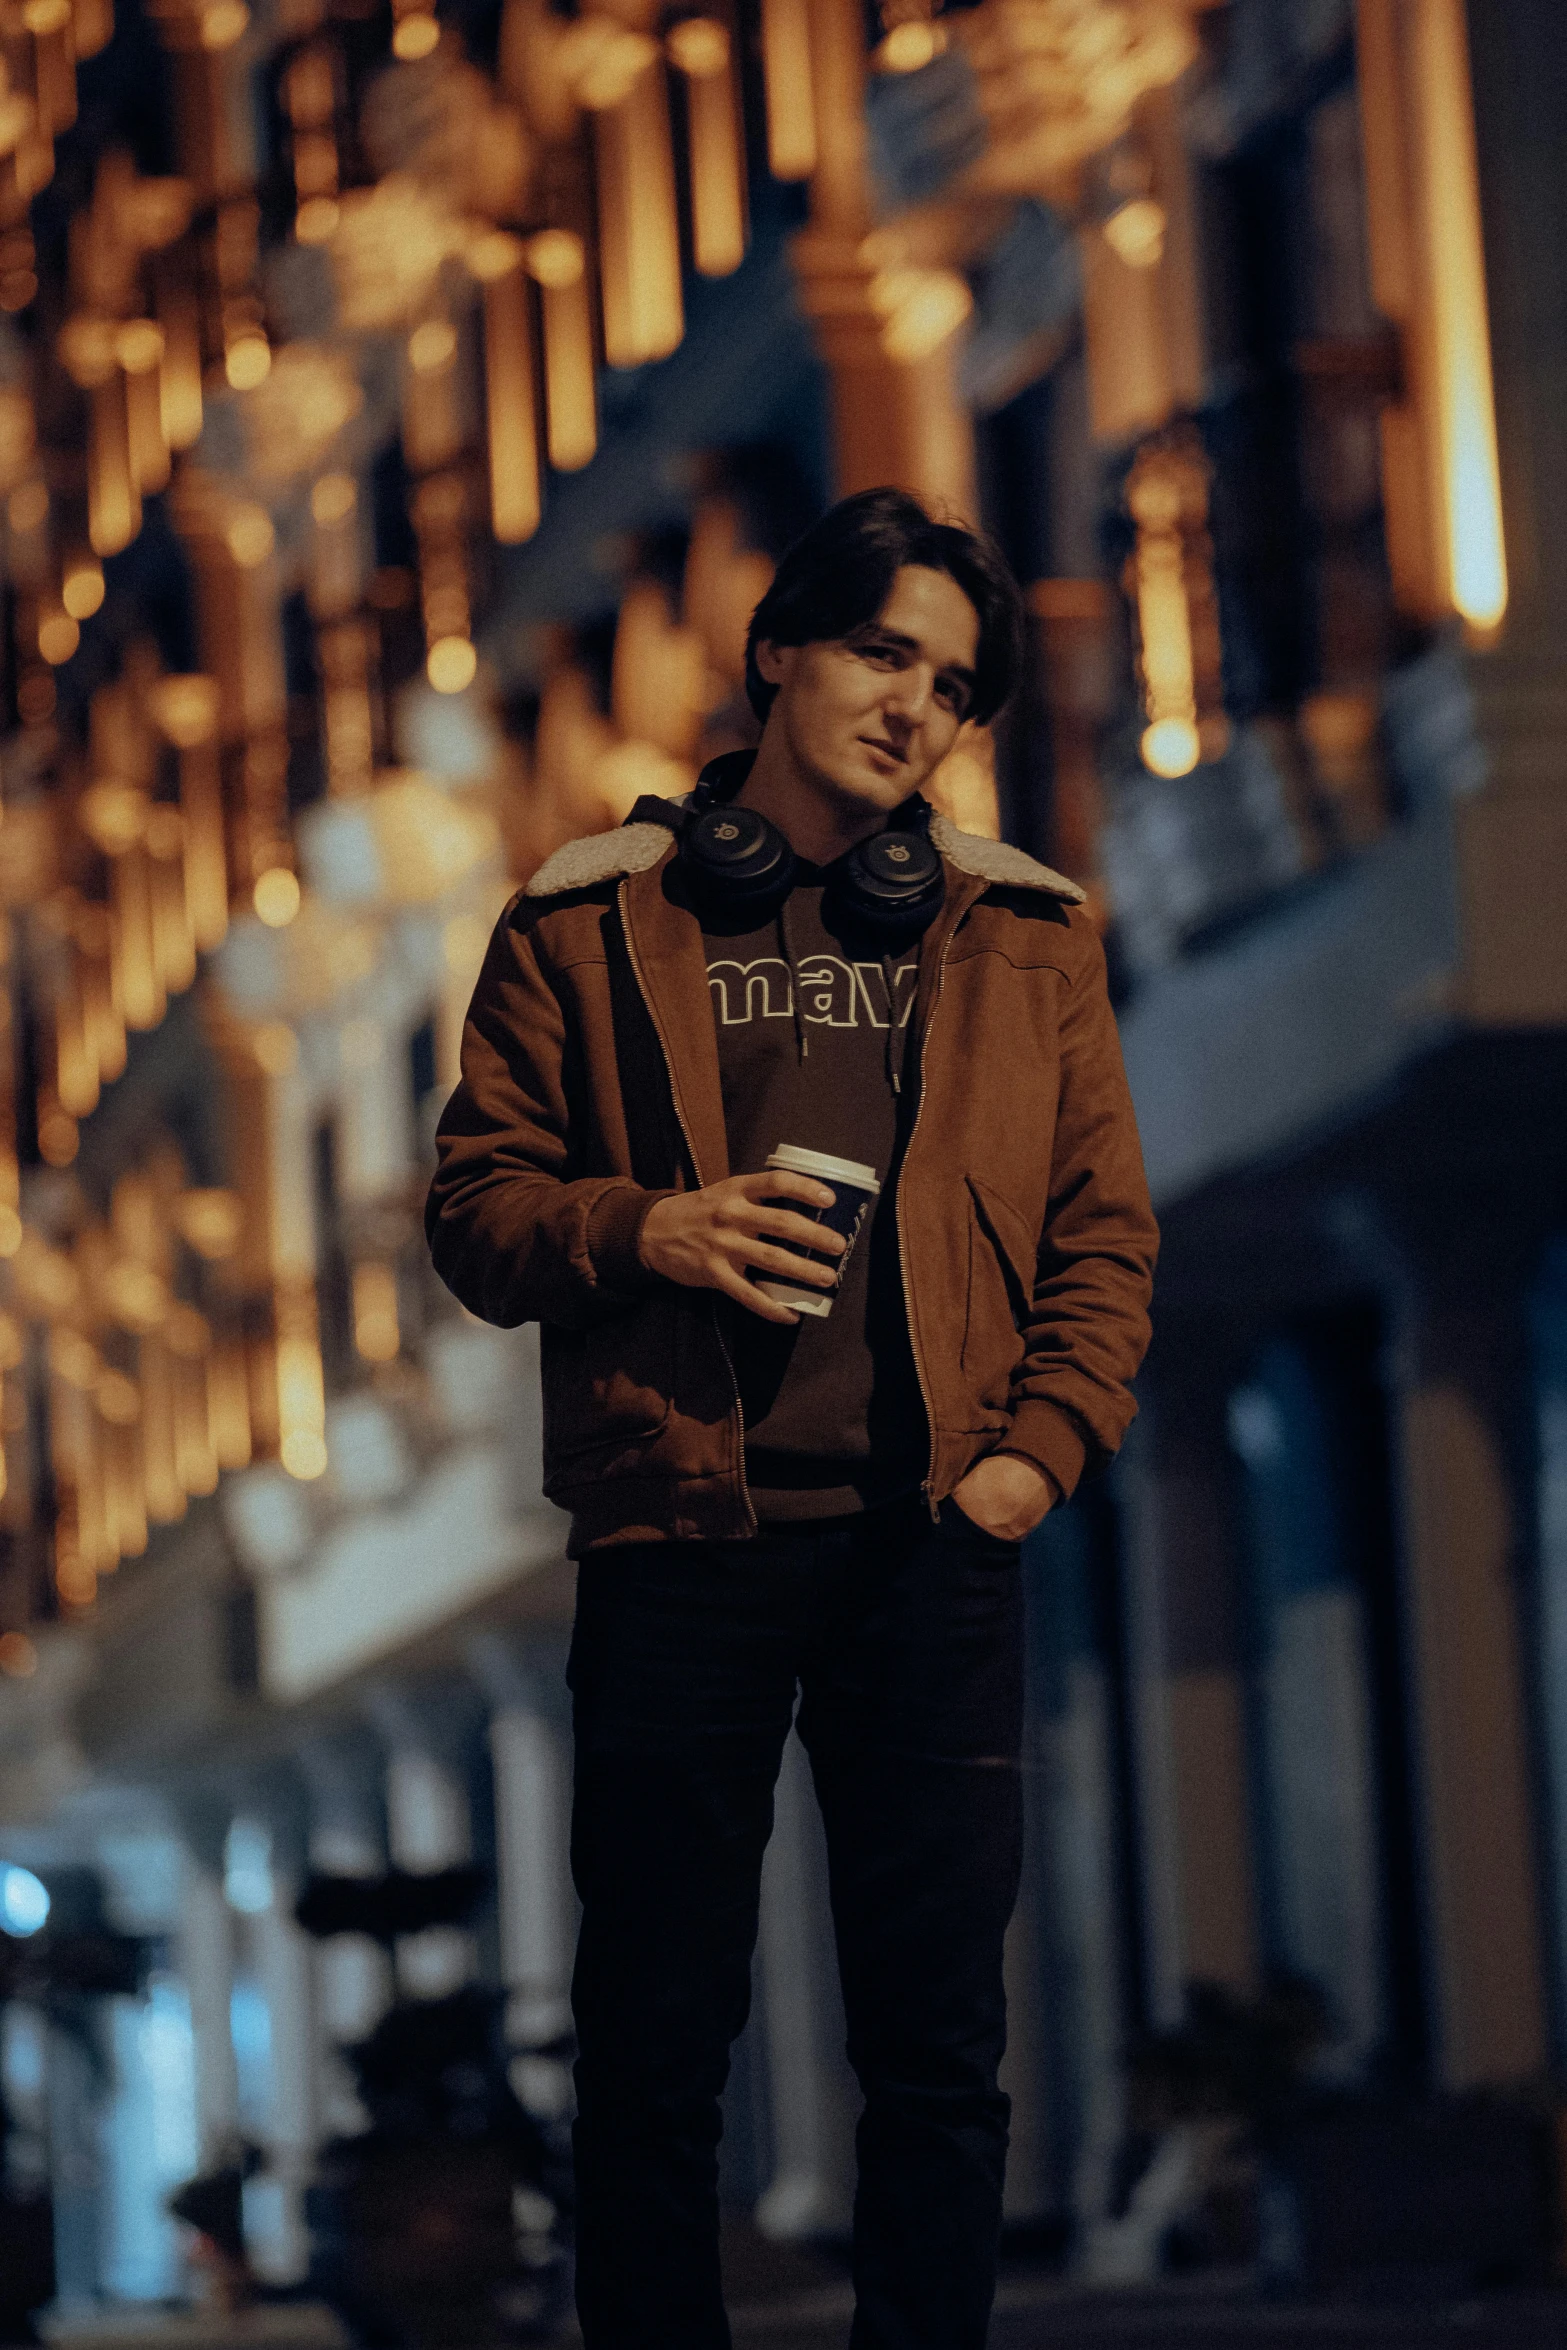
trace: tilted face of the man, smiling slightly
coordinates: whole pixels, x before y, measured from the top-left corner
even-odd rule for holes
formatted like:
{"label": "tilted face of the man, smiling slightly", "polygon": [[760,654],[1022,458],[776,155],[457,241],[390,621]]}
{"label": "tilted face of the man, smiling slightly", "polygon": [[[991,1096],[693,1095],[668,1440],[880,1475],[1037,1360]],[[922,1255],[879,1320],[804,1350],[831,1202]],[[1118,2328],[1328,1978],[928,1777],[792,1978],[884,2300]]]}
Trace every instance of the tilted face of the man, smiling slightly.
{"label": "tilted face of the man, smiling slightly", "polygon": [[909,564],[879,616],[829,644],[759,644],[801,776],[860,808],[893,811],[951,750],[975,684],[980,616],[944,571]]}

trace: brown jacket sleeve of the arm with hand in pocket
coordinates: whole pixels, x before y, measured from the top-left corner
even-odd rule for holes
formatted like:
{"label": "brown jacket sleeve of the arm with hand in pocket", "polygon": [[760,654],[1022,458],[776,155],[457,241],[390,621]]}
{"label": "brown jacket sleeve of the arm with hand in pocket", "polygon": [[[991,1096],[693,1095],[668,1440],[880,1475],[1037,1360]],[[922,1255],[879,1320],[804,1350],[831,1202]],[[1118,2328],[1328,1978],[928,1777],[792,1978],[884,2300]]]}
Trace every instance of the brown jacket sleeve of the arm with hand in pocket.
{"label": "brown jacket sleeve of the arm with hand in pocket", "polygon": [[1052,1476],[1062,1495],[1132,1424],[1130,1382],[1149,1344],[1158,1257],[1104,949],[1088,938],[1062,999],[1050,1198],[1013,1375],[1013,1426],[998,1445]]}

